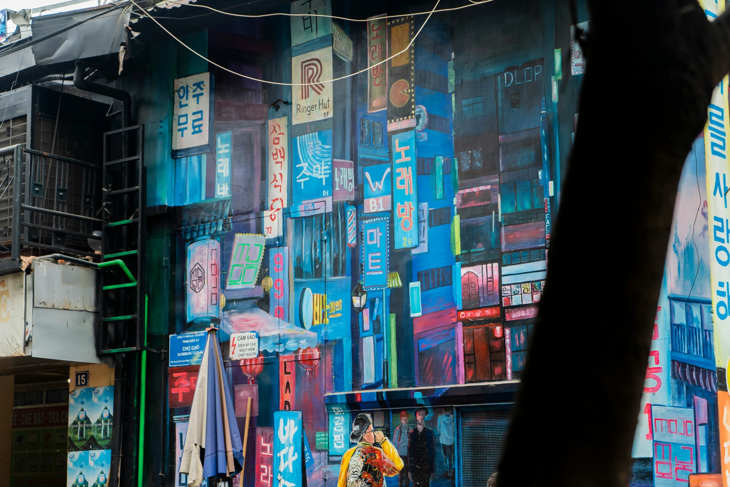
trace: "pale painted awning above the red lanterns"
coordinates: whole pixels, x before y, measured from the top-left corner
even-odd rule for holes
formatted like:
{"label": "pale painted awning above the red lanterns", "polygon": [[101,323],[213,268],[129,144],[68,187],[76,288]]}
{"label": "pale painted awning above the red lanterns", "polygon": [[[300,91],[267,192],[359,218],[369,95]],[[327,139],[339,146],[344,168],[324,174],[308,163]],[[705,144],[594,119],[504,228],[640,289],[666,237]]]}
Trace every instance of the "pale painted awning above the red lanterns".
{"label": "pale painted awning above the red lanterns", "polygon": [[221,341],[230,340],[231,333],[258,332],[259,351],[283,352],[317,346],[317,333],[278,319],[251,303],[250,308],[223,312]]}

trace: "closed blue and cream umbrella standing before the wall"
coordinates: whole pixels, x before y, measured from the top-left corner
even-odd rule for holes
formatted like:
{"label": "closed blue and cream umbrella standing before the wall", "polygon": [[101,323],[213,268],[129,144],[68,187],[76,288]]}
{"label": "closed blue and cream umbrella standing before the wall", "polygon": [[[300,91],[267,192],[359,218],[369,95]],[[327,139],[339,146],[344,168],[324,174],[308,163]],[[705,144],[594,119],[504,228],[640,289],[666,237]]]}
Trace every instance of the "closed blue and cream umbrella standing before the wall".
{"label": "closed blue and cream umbrella standing before the wall", "polygon": [[243,464],[241,436],[218,348],[218,329],[207,331],[180,463],[189,487],[198,487],[204,478],[236,475]]}

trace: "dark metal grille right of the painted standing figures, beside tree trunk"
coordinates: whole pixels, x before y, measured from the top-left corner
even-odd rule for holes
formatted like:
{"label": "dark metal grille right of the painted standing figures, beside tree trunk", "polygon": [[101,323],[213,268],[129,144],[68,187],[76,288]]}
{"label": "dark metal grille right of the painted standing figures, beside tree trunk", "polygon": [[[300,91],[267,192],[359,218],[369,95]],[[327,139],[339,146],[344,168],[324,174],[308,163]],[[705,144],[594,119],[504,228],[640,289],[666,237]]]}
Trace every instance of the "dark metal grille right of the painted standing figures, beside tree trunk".
{"label": "dark metal grille right of the painted standing figures, beside tree trunk", "polygon": [[461,412],[461,486],[486,487],[489,476],[499,467],[509,427],[509,409]]}

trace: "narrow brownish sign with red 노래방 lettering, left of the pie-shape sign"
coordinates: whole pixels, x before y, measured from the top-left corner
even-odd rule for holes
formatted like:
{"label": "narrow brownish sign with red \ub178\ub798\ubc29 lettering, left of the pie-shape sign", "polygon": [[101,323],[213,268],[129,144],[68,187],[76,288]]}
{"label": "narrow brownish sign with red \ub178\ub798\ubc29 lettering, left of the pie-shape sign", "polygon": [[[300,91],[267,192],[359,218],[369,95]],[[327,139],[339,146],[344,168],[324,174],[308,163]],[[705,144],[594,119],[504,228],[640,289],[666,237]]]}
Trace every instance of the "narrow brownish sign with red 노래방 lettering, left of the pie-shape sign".
{"label": "narrow brownish sign with red \ub178\ub798\ubc29 lettering, left of the pie-shape sign", "polygon": [[385,69],[386,63],[381,63],[388,58],[387,41],[388,29],[385,28],[385,17],[370,17],[367,23],[367,65],[370,68],[367,84],[367,111],[371,113],[388,108],[388,74]]}

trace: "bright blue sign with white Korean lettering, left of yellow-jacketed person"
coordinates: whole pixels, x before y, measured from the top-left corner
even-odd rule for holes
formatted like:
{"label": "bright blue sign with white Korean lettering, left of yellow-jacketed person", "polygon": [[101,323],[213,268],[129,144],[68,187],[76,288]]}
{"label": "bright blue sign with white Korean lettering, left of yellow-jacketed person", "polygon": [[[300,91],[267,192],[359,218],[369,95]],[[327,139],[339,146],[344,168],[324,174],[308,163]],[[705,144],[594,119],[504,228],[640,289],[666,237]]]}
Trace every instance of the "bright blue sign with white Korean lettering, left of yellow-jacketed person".
{"label": "bright blue sign with white Korean lettering, left of yellow-jacketed person", "polygon": [[280,487],[301,487],[301,411],[274,413],[274,481]]}

